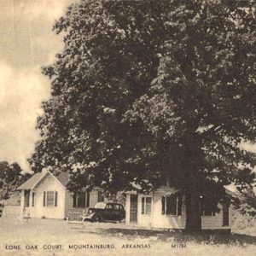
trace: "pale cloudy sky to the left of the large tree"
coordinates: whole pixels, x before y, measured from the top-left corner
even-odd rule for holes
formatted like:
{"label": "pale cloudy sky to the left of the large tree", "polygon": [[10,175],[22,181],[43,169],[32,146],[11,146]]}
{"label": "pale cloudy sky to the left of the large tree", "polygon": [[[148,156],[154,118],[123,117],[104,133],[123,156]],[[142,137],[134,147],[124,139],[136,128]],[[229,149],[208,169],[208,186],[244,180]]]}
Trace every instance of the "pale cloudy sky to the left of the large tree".
{"label": "pale cloudy sky to the left of the large tree", "polygon": [[17,161],[25,172],[39,139],[41,102],[49,98],[41,68],[63,48],[52,26],[72,2],[0,0],[0,161]]}

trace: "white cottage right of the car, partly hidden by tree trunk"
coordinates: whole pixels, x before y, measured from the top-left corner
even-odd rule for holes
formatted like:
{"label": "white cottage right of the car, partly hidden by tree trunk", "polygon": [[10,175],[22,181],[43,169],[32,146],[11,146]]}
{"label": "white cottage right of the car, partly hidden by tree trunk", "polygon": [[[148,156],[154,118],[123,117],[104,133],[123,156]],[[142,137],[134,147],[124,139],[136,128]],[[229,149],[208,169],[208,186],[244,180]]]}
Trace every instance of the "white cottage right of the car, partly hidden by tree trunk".
{"label": "white cottage right of the car, partly hidden by tree trunk", "polygon": [[[213,212],[207,203],[201,206],[202,230],[230,230],[230,207],[218,204]],[[148,195],[135,191],[126,192],[125,223],[163,229],[185,229],[185,196],[170,187],[154,189]]]}

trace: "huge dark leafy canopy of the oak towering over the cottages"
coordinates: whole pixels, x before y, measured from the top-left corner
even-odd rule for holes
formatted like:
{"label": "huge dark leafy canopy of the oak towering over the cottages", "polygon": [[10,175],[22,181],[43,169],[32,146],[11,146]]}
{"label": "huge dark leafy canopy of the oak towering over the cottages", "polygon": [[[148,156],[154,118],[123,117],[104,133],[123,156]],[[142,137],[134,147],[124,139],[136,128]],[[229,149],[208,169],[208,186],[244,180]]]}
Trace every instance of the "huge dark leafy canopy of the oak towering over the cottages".
{"label": "huge dark leafy canopy of the oak towering over the cottages", "polygon": [[[71,5],[54,26],[64,49],[44,67],[51,97],[38,119],[32,170],[70,172],[73,190],[168,183],[188,206],[201,194],[219,200],[230,183],[252,185],[255,157],[241,143],[256,136],[254,5]],[[197,207],[187,208],[198,219]]]}

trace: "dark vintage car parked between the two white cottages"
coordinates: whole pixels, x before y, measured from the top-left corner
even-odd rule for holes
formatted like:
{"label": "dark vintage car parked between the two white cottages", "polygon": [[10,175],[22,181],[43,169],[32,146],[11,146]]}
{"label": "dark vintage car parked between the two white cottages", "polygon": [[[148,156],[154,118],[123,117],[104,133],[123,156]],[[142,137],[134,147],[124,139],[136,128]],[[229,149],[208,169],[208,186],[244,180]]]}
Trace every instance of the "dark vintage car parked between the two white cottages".
{"label": "dark vintage car parked between the two white cottages", "polygon": [[123,205],[114,202],[98,202],[83,215],[84,221],[121,221],[125,218]]}

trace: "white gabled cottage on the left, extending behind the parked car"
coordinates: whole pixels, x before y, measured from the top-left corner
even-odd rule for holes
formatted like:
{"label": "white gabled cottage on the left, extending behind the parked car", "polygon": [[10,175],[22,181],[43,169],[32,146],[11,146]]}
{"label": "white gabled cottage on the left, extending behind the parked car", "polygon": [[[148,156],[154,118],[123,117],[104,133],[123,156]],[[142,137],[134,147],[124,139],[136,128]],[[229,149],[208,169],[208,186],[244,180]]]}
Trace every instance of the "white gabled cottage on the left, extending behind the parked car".
{"label": "white gabled cottage on the left, extending behind the parked car", "polygon": [[21,184],[20,214],[31,218],[67,218],[71,212],[83,212],[104,201],[102,189],[73,195],[67,190],[68,174],[55,176],[49,171],[38,172]]}

